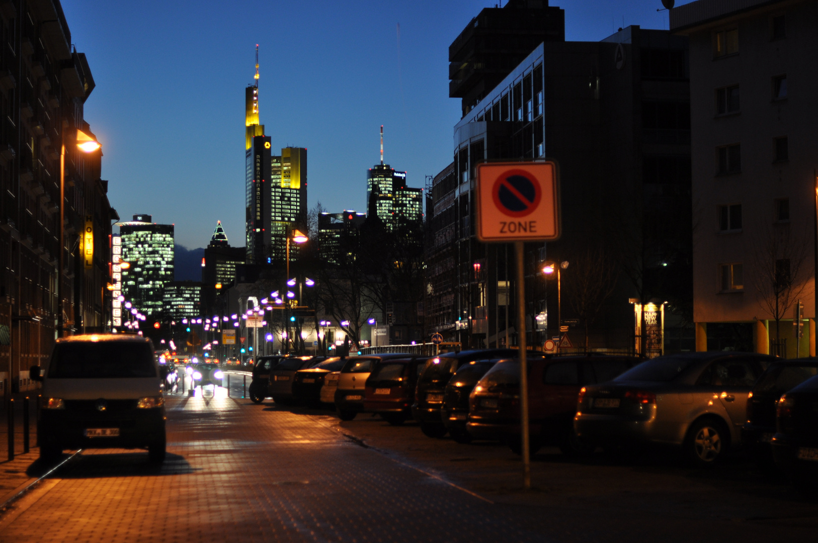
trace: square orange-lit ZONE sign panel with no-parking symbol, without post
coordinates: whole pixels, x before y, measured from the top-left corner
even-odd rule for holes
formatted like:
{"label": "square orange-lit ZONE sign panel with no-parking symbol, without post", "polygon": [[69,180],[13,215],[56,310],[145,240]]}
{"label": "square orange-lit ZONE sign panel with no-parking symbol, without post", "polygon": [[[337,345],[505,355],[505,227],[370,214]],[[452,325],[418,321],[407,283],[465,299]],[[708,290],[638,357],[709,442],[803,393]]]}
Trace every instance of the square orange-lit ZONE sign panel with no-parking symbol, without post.
{"label": "square orange-lit ZONE sign panel with no-parking symbol, without post", "polygon": [[477,239],[559,239],[559,188],[554,162],[478,164]]}

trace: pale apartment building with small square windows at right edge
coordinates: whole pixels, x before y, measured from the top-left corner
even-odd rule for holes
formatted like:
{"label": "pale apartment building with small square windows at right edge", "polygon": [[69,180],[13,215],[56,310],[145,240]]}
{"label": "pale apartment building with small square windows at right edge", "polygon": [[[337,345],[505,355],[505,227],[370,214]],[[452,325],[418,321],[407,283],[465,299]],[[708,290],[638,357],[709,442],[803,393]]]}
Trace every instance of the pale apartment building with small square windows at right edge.
{"label": "pale apartment building with small square windows at right edge", "polygon": [[696,349],[815,356],[815,3],[699,0],[670,25],[690,39]]}

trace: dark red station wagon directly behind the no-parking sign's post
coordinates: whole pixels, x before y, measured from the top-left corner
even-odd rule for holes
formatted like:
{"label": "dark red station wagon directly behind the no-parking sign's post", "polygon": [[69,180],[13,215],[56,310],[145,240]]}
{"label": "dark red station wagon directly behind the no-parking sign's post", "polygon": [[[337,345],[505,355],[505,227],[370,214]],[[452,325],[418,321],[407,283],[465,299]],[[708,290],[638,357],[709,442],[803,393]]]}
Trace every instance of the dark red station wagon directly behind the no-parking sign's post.
{"label": "dark red station wagon directly behind the no-parking sign's post", "polygon": [[[640,362],[636,357],[532,357],[528,360],[530,451],[556,445],[564,454],[584,451],[573,433],[573,416],[583,384],[607,382]],[[522,451],[519,425],[519,359],[497,362],[469,398],[466,431],[474,438],[499,439]]]}

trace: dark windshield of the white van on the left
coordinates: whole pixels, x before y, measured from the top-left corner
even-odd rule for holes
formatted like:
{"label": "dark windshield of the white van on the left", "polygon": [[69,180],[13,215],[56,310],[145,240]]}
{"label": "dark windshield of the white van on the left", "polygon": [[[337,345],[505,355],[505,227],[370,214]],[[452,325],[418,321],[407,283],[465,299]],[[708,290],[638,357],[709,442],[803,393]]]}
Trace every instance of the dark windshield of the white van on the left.
{"label": "dark windshield of the white van on the left", "polygon": [[151,346],[135,341],[59,343],[48,366],[48,377],[52,379],[156,376]]}

